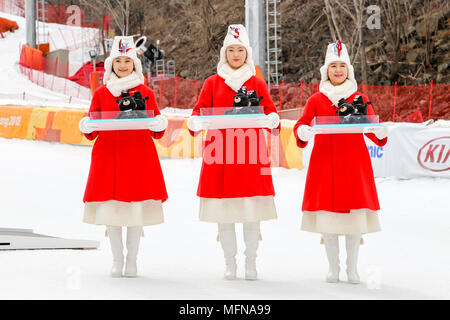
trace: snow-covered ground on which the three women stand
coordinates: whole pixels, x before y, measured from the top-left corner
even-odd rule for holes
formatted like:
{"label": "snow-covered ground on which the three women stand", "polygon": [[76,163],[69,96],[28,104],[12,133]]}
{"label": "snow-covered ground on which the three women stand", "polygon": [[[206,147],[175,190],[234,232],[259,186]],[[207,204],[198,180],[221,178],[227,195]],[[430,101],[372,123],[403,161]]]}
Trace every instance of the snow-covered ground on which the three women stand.
{"label": "snow-covered ground on which the three women stand", "polygon": [[259,280],[243,280],[239,227],[239,279],[226,281],[217,227],[197,218],[200,159],[161,161],[165,223],[145,228],[139,277],[110,278],[104,227],[81,222],[91,150],[0,139],[0,227],[100,241],[98,250],[0,251],[0,299],[450,299],[450,180],[377,179],[383,230],[364,237],[362,284],[328,284],[320,237],[300,230],[305,172],[273,169],[278,219],[262,223]]}

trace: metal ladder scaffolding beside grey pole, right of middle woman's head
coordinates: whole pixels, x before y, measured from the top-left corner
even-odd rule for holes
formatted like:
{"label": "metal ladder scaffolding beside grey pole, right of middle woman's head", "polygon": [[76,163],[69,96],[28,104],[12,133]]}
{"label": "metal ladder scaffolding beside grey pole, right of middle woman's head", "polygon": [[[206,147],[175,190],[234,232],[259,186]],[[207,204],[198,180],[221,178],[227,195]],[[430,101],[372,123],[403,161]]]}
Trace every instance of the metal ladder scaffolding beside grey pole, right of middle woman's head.
{"label": "metal ladder scaffolding beside grey pole, right of middle woman's head", "polygon": [[270,87],[279,86],[281,73],[281,0],[266,0],[266,50],[267,82]]}

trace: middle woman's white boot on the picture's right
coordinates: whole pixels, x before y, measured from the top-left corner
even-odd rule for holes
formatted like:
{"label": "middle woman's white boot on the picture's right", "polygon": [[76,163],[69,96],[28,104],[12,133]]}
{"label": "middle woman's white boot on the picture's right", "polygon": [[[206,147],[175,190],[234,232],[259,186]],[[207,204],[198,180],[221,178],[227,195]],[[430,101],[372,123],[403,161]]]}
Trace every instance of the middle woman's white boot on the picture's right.
{"label": "middle woman's white boot on the picture's right", "polygon": [[244,242],[245,242],[245,280],[256,280],[256,250],[259,244],[259,221],[244,223]]}

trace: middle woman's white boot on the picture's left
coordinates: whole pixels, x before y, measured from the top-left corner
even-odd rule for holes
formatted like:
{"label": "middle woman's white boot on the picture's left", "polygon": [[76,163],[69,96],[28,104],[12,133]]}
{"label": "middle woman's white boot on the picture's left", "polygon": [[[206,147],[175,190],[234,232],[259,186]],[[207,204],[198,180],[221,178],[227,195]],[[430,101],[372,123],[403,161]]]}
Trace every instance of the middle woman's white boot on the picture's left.
{"label": "middle woman's white boot on the picture's left", "polygon": [[236,231],[234,223],[219,223],[219,240],[225,257],[225,279],[236,279]]}

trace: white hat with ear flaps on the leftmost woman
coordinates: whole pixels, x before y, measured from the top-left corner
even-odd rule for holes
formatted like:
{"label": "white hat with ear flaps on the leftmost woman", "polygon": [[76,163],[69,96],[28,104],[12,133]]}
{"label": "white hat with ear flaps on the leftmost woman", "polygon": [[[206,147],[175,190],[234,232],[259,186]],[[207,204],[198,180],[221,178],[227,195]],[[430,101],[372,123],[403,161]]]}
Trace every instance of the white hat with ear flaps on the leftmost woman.
{"label": "white hat with ear flaps on the leftmost woman", "polygon": [[111,52],[109,57],[105,59],[105,74],[103,75],[103,83],[106,82],[111,77],[112,70],[112,62],[114,58],[120,56],[127,56],[133,59],[134,62],[134,70],[136,71],[139,79],[144,83],[144,75],[142,74],[142,63],[141,60],[137,57],[136,54],[136,46],[133,41],[133,37],[114,37],[114,42],[111,48]]}

